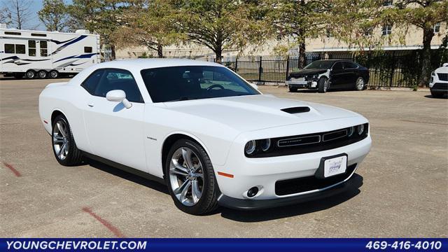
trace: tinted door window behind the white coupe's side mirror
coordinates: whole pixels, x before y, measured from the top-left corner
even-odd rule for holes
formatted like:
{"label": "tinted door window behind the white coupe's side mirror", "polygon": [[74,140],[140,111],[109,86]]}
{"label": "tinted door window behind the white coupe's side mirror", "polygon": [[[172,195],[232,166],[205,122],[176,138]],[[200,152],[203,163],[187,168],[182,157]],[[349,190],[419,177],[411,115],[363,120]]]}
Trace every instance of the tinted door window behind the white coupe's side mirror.
{"label": "tinted door window behind the white coupe's side mirror", "polygon": [[129,71],[106,69],[94,92],[95,96],[106,97],[111,90],[123,90],[130,102],[143,102],[139,87]]}

